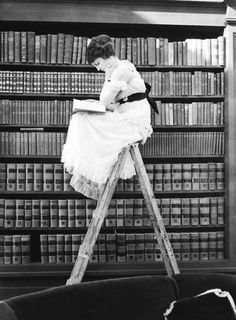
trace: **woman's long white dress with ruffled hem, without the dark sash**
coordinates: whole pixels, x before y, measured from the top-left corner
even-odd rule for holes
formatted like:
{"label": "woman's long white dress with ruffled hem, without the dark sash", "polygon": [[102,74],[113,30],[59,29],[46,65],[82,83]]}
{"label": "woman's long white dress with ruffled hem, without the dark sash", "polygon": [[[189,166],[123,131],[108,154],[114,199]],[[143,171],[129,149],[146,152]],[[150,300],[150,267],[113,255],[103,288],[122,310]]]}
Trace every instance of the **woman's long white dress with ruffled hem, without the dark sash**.
{"label": "woman's long white dress with ruffled hem, without the dark sash", "polygon": [[[110,74],[106,74],[100,101],[109,95],[115,101],[146,88],[135,66],[118,60]],[[71,175],[70,184],[77,192],[98,199],[121,150],[129,144],[146,140],[152,133],[150,105],[147,99],[115,105],[106,113],[78,112],[70,120],[61,161]],[[135,175],[128,157],[120,177]]]}

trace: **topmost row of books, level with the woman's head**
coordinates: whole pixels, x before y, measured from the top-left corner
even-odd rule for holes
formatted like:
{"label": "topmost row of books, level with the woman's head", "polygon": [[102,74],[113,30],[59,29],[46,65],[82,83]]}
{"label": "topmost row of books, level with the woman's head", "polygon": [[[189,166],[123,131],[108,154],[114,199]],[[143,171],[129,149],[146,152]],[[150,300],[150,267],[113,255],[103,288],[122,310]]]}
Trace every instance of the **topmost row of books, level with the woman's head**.
{"label": "topmost row of books, level with the woman's head", "polygon": [[[85,64],[91,38],[66,33],[1,31],[1,62]],[[113,37],[116,55],[137,65],[224,65],[225,39],[169,41],[163,37]]]}

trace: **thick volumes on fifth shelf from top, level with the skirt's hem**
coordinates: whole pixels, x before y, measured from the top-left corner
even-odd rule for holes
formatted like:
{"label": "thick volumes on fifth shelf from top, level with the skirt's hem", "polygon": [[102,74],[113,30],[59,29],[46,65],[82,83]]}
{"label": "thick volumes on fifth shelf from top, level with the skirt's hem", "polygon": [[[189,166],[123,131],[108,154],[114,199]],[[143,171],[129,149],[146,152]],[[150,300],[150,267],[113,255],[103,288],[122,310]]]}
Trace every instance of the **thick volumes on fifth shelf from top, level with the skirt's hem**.
{"label": "thick volumes on fifth shelf from top, level with the skirt's hem", "polygon": [[[223,190],[224,163],[145,164],[154,191]],[[71,191],[61,163],[0,163],[1,191]],[[119,180],[118,191],[140,191],[136,176]]]}

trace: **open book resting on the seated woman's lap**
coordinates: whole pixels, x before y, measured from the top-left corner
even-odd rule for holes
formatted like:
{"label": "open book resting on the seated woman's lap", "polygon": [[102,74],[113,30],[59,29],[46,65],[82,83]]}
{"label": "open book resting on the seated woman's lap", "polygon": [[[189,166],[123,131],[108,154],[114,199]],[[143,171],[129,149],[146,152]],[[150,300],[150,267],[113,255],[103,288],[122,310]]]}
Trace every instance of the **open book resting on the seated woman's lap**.
{"label": "open book resting on the seated woman's lap", "polygon": [[73,99],[73,112],[106,112],[106,106],[98,101],[93,99],[86,99],[86,100],[78,100]]}

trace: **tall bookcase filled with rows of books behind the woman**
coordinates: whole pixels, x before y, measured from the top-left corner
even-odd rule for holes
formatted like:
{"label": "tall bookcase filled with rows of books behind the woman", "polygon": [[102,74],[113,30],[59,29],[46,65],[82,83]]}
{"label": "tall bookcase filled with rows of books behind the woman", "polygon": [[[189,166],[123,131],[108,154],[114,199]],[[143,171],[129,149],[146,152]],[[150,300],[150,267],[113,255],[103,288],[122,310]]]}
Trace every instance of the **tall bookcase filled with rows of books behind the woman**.
{"label": "tall bookcase filled with rows of books behind the woman", "polygon": [[[229,150],[228,133],[233,127],[228,97],[233,98],[229,53],[222,54],[229,46],[228,36],[223,38],[228,26],[163,27],[126,21],[117,30],[116,24],[98,21],[48,19],[29,25],[10,15],[2,20],[1,295],[64,284],[96,204],[71,189],[60,163],[73,97],[98,98],[103,82],[104,75],[86,65],[82,47],[79,55],[79,41],[86,44],[95,35],[94,27],[96,34],[109,29],[120,57],[131,58],[152,84],[160,116],[153,114],[154,133],[141,152],[181,271],[234,272],[229,178],[234,149]],[[19,34],[28,45],[22,47],[20,38],[20,58],[12,47],[12,38],[16,41]],[[69,41],[63,47],[70,51],[54,50],[63,34]],[[54,43],[51,50],[42,45],[41,35]],[[198,40],[186,40],[193,38]],[[126,50],[118,51],[121,43]],[[221,49],[214,51],[214,58],[202,53],[201,60],[187,50],[193,46],[197,52],[200,46],[208,53],[216,44]],[[165,270],[134,177],[117,186],[85,280],[150,273]]]}

